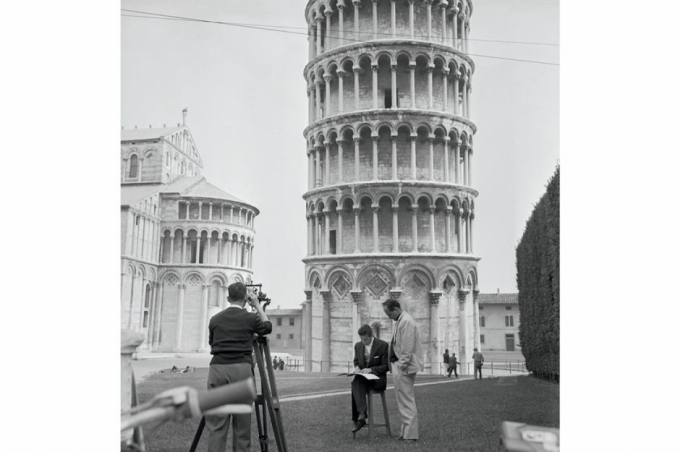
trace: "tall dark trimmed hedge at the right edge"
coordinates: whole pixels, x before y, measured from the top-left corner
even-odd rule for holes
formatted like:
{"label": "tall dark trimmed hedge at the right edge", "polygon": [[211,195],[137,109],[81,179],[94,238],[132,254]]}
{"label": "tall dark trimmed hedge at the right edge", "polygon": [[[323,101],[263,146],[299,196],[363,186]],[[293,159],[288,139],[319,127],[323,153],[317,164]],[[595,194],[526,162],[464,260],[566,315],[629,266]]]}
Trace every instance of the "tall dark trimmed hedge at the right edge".
{"label": "tall dark trimmed hedge at the right edge", "polygon": [[519,339],[527,370],[560,374],[560,168],[531,213],[517,245]]}

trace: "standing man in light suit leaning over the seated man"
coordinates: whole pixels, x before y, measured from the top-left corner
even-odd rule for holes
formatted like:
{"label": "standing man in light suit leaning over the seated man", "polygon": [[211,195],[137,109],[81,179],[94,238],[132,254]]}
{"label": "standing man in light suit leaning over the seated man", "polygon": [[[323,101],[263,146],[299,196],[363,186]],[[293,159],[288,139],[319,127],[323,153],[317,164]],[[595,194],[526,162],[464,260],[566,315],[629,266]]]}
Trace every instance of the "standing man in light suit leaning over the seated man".
{"label": "standing man in light suit leaning over the seated man", "polygon": [[423,368],[420,333],[413,317],[401,310],[397,300],[383,302],[383,310],[394,320],[394,334],[390,343],[389,360],[394,381],[394,393],[401,415],[401,436],[407,443],[418,440],[418,408],[414,383],[416,373]]}

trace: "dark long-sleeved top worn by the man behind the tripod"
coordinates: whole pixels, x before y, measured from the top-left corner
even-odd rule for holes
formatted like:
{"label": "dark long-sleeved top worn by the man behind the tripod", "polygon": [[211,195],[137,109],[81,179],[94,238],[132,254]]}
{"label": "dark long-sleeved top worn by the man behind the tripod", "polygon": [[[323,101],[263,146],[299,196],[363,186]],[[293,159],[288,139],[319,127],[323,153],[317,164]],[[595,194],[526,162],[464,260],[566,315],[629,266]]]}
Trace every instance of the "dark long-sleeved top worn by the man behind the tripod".
{"label": "dark long-sleeved top worn by the man behind the tripod", "polygon": [[252,363],[253,334],[271,333],[272,323],[244,309],[229,307],[210,319],[208,332],[213,355],[210,364]]}

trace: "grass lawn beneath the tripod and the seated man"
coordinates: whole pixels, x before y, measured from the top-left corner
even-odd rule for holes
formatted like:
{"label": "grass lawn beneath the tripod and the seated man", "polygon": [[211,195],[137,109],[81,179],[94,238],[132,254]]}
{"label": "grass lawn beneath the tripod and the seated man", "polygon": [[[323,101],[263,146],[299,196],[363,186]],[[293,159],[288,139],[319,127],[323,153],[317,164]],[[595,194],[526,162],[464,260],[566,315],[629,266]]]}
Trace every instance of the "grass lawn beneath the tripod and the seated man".
{"label": "grass lawn beneath the tripod and the seated man", "polygon": [[[157,374],[139,384],[142,402],[159,392],[176,387],[191,386],[204,390],[207,369],[196,369],[186,374]],[[391,377],[388,375],[388,388]],[[286,401],[294,395],[319,394],[349,389],[350,379],[328,374],[304,372],[277,372],[276,382],[281,398],[286,442],[290,452],[394,452],[412,451],[496,451],[500,424],[504,420],[533,425],[559,427],[559,385],[518,376],[490,378],[481,381],[449,380],[438,375],[419,375],[416,383],[446,381],[416,387],[420,422],[420,440],[415,445],[397,441],[400,418],[394,391],[386,392],[387,408],[393,437],[384,428],[374,432],[368,442],[368,429],[364,427],[352,441],[350,429],[350,395],[331,395],[309,400]],[[379,398],[374,397],[379,405]],[[376,411],[376,421],[382,423],[382,410]],[[184,452],[189,450],[199,420],[167,422],[144,430],[149,452]],[[252,419],[251,450],[260,450],[257,441],[257,423]],[[270,448],[276,451],[271,428]],[[198,451],[206,451],[207,432],[204,432]],[[227,451],[231,451],[230,441]]]}

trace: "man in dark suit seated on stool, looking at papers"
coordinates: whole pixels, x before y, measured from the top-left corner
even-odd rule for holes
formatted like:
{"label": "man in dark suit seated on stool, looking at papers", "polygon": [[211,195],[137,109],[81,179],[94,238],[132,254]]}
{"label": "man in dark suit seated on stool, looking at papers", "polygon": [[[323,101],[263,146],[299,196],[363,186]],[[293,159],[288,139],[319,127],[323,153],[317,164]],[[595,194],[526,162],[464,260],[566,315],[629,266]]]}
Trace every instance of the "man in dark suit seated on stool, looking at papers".
{"label": "man in dark suit seated on stool, looking at papers", "polygon": [[359,337],[361,341],[354,344],[354,372],[374,374],[380,379],[367,380],[357,375],[352,380],[352,432],[366,425],[366,393],[369,389],[385,390],[389,368],[387,342],[374,338],[373,330],[368,325],[359,328]]}

